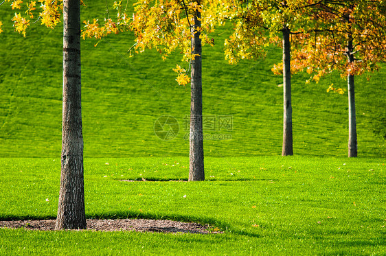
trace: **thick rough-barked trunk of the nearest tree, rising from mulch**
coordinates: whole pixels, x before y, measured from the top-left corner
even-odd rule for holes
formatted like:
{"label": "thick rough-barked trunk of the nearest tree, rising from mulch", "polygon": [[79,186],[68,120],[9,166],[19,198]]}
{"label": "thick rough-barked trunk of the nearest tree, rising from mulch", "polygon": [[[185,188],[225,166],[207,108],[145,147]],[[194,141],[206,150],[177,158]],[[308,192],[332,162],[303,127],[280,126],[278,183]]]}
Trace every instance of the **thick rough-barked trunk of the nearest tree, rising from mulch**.
{"label": "thick rough-barked trunk of the nearest tree, rising from mulch", "polygon": [[62,172],[55,229],[86,229],[80,100],[80,0],[63,1]]}

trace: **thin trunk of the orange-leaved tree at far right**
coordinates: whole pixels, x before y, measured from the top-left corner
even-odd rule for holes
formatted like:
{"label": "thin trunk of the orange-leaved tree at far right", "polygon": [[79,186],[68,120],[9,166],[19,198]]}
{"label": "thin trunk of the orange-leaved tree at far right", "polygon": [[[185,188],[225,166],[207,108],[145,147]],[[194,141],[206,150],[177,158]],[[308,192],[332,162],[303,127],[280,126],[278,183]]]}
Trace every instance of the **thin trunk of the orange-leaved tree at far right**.
{"label": "thin trunk of the orange-leaved tree at far right", "polygon": [[[348,36],[348,62],[354,62],[352,36]],[[358,156],[358,141],[356,139],[355,87],[354,75],[348,74],[348,157]]]}

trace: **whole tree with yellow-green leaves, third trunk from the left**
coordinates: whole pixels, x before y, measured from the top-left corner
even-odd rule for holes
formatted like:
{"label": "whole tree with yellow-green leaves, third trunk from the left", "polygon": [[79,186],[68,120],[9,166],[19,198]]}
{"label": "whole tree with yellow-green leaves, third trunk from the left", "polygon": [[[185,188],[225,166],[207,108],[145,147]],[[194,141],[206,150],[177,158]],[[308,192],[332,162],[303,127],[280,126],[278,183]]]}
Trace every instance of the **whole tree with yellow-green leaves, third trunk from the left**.
{"label": "whole tree with yellow-green leaves, third trunk from the left", "polygon": [[[283,75],[283,143],[282,155],[293,155],[293,126],[291,100],[291,73],[296,73],[297,59],[291,62],[291,51],[299,44],[300,34],[313,30],[313,21],[307,13],[321,1],[233,1],[225,4],[235,23],[234,33],[225,42],[225,58],[234,64],[240,59],[264,57],[264,47],[280,45],[283,49],[282,62],[273,67],[275,74]],[[280,39],[281,38],[281,39]]]}

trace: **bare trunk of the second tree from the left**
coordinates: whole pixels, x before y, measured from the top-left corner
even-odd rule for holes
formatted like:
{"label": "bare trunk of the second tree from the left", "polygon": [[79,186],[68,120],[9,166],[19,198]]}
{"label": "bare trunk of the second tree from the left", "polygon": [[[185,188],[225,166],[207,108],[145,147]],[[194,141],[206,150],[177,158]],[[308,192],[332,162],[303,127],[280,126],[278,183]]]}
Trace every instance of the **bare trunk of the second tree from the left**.
{"label": "bare trunk of the second tree from the left", "polygon": [[[199,1],[198,1],[199,4]],[[203,181],[204,149],[203,149],[203,89],[201,82],[201,13],[196,11],[192,30],[193,54],[199,54],[192,60],[191,103],[190,103],[190,168],[189,181]]]}

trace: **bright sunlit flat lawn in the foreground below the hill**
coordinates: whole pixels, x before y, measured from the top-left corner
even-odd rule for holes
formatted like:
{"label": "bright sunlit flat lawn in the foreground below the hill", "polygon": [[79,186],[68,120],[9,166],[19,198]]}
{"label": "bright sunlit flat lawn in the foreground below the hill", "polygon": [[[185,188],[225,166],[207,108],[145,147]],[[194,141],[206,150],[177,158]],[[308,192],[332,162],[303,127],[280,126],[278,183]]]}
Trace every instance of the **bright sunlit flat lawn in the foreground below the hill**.
{"label": "bright sunlit flat lawn in the foreground below the hill", "polygon": [[[0,164],[1,220],[55,218],[59,159]],[[190,220],[225,233],[0,229],[0,254],[386,253],[385,159],[207,158],[208,181],[197,183],[164,181],[188,178],[184,157],[86,159],[84,165],[88,218]],[[139,177],[156,181],[120,181]]]}

